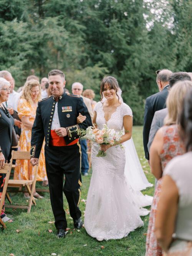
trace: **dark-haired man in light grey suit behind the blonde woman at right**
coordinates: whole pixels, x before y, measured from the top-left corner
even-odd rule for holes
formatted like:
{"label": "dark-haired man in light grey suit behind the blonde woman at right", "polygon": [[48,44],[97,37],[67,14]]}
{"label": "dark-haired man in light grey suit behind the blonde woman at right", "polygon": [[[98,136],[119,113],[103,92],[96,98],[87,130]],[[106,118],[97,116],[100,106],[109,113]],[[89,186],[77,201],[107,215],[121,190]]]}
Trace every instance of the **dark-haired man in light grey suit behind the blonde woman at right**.
{"label": "dark-haired man in light grey suit behind the blonde woman at right", "polygon": [[[187,72],[173,73],[169,78],[169,86],[171,88],[175,83],[179,81],[185,81],[185,80],[191,81],[189,73]],[[147,144],[148,150],[151,147],[151,143],[154,139],[154,136],[156,135],[156,132],[159,130],[160,127],[163,126],[164,118],[166,117],[166,115],[167,115],[167,108],[164,108],[162,110],[158,110],[155,112],[152,120],[152,124],[151,124],[151,129],[149,132],[149,141]]]}

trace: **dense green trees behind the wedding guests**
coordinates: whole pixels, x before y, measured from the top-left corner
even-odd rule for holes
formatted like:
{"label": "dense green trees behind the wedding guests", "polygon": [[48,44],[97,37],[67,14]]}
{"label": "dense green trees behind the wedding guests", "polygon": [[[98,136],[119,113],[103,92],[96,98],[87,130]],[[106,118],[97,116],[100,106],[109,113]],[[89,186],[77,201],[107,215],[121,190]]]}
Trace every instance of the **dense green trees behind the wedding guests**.
{"label": "dense green trees behind the wedding guests", "polygon": [[58,68],[99,99],[115,76],[134,123],[157,92],[155,71],[192,71],[191,0],[0,0],[0,70],[19,87]]}

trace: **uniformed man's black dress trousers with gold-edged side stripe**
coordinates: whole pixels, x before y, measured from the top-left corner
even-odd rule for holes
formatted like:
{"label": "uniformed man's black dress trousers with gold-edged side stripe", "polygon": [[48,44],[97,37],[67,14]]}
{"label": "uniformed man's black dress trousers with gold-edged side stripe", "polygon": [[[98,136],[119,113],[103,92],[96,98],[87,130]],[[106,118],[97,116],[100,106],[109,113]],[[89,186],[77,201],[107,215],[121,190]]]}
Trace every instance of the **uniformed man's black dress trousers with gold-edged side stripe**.
{"label": "uniformed man's black dress trousers with gold-edged side stripe", "polygon": [[[81,217],[78,207],[81,195],[81,146],[45,146],[46,172],[50,189],[50,200],[56,228],[67,228],[63,209],[63,192],[73,219]],[[63,186],[63,176],[65,183]]]}

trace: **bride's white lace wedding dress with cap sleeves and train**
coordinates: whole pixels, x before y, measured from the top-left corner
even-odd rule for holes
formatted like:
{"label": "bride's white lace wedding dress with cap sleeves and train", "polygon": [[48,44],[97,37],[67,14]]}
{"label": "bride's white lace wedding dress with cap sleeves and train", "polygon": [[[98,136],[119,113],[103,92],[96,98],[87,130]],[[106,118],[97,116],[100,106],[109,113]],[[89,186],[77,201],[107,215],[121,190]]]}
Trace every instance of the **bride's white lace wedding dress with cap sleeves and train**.
{"label": "bride's white lace wedding dress with cap sleeves and train", "polygon": [[[123,117],[132,116],[132,111],[125,103],[118,106],[116,112],[106,122],[103,104],[95,106],[96,123],[99,129],[107,123],[109,128],[123,130]],[[89,186],[84,227],[87,233],[99,240],[120,239],[134,229],[144,225],[139,215],[147,215],[149,211],[141,208],[151,205],[152,197],[146,198],[140,191],[132,190],[124,168],[125,151],[120,146],[109,148],[105,157],[97,157],[99,145],[92,147],[93,174]]]}

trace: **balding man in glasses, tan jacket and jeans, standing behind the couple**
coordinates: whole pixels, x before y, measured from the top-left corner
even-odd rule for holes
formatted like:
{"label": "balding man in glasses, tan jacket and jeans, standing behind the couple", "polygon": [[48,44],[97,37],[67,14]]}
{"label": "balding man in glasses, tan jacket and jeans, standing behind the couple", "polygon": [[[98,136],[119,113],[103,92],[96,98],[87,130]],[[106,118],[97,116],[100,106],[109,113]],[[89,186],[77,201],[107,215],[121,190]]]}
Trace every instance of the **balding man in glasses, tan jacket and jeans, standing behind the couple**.
{"label": "balding man in glasses, tan jacket and jeans, standing behind the couple", "polygon": [[[91,106],[91,100],[88,98],[82,96],[83,93],[83,85],[79,82],[73,83],[72,85],[72,93],[74,95],[80,96],[83,98],[84,104],[88,108],[89,115],[91,116],[91,120],[93,118],[93,109]],[[86,118],[86,116],[85,116]],[[87,141],[86,140],[80,140],[81,145],[81,173],[84,176],[88,175],[89,170],[89,161],[88,161],[88,155],[87,155]]]}

